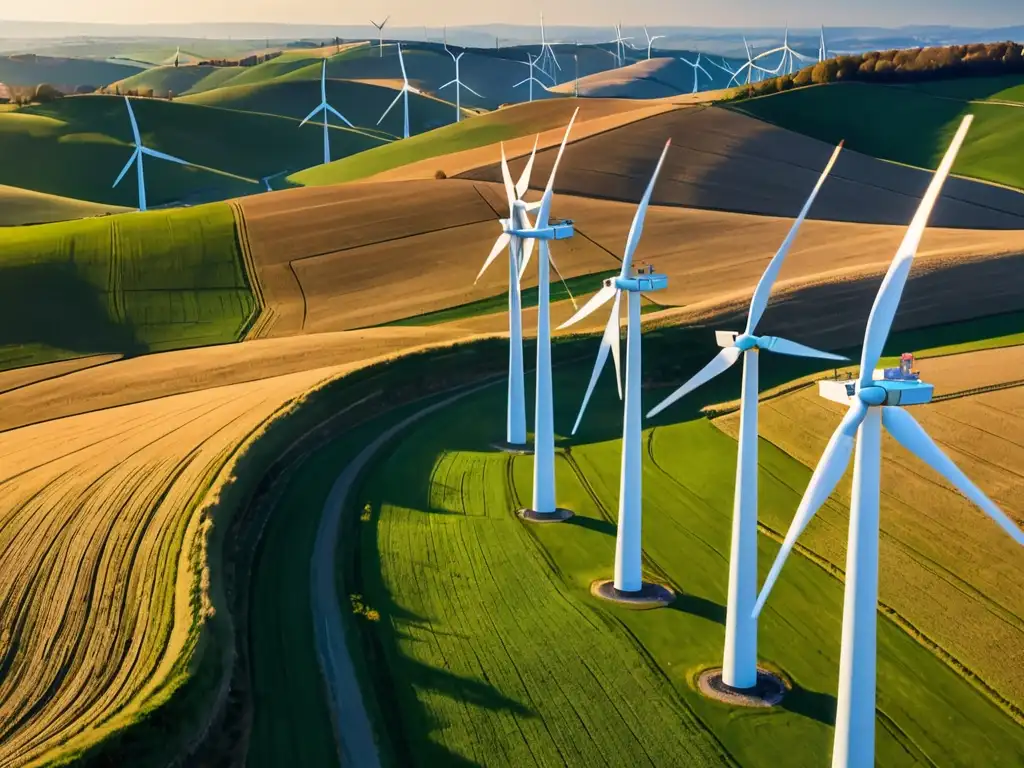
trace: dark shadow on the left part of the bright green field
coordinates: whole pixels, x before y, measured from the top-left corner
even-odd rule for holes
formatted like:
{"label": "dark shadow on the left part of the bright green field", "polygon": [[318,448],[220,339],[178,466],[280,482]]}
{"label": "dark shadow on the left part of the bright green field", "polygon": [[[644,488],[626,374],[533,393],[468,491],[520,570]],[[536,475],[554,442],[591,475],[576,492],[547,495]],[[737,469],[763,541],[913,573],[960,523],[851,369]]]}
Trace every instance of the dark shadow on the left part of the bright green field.
{"label": "dark shadow on the left part of the bright green field", "polygon": [[44,344],[82,354],[144,351],[131,323],[118,321],[105,293],[72,264],[4,269],[0,282],[0,347]]}

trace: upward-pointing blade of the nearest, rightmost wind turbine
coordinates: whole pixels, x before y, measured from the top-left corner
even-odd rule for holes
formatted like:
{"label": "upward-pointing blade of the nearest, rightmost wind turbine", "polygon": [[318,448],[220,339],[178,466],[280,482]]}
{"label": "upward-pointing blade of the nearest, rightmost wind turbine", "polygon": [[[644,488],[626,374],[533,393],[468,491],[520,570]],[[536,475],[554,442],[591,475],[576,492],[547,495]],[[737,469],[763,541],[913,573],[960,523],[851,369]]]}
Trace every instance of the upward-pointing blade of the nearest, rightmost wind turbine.
{"label": "upward-pointing blade of the nearest, rightmost wind turbine", "polygon": [[967,138],[967,132],[971,128],[974,116],[968,115],[961,123],[952,143],[946,151],[946,156],[942,159],[939,169],[928,185],[928,191],[925,193],[925,197],[921,201],[918,212],[910,222],[910,227],[906,230],[899,250],[896,251],[892,264],[889,265],[889,271],[882,280],[882,287],[871,305],[871,313],[867,316],[867,331],[864,334],[864,347],[860,355],[860,385],[862,387],[871,384],[871,374],[882,356],[882,348],[886,344],[886,339],[889,338],[889,329],[896,315],[896,308],[899,306],[903,287],[910,273],[913,257],[918,253],[918,246],[921,245],[921,239],[925,234],[925,227],[928,226],[932,209],[935,208],[935,204],[939,200],[942,185],[949,176],[949,171],[956,160],[956,154],[964,144],[964,139]]}

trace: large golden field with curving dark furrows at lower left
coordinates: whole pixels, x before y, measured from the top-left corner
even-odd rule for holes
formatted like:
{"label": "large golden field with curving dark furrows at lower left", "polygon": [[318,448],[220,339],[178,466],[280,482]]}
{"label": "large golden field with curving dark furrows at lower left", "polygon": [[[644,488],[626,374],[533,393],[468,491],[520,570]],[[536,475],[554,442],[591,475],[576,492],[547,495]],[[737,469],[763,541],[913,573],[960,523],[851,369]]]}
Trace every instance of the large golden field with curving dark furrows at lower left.
{"label": "large golden field with curving dark furrows at lower left", "polygon": [[182,682],[208,605],[198,511],[240,443],[330,373],[0,434],[0,763],[74,754]]}

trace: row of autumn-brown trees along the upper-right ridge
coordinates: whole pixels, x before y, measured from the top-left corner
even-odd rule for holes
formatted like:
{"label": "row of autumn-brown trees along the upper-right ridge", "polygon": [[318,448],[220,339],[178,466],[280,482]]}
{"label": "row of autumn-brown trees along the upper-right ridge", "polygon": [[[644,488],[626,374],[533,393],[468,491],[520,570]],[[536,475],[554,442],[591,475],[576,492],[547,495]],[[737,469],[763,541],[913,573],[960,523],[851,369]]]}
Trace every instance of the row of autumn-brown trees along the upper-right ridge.
{"label": "row of autumn-brown trees along the upper-right ridge", "polygon": [[1024,46],[1020,43],[906,48],[829,58],[793,75],[753,83],[736,97],[764,95],[816,83],[915,83],[1016,73],[1024,73]]}

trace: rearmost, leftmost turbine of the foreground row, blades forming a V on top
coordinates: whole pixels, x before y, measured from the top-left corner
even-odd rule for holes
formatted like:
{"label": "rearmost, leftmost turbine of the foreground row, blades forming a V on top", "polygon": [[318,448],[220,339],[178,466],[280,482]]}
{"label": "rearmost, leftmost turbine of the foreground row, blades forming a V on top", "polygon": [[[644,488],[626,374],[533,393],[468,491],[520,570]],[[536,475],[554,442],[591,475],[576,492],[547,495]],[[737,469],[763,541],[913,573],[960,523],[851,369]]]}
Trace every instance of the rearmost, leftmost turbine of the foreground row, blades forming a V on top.
{"label": "rearmost, leftmost turbine of the foreground row, blades forming a V on top", "polygon": [[522,199],[529,188],[529,174],[534,169],[534,158],[537,156],[537,144],[540,135],[534,141],[534,151],[529,154],[526,167],[523,168],[519,180],[513,184],[509,172],[508,161],[505,159],[505,144],[502,143],[502,180],[505,183],[505,196],[509,204],[509,217],[502,219],[502,233],[495,241],[494,248],[487,255],[483,266],[473,281],[473,285],[483,276],[483,272],[498,258],[506,247],[509,249],[509,391],[508,414],[506,418],[505,441],[509,445],[526,444],[526,395],[522,362],[522,292],[519,282],[522,271],[529,259],[529,250],[535,241],[525,241],[513,234],[514,231],[528,229],[530,226],[527,211],[535,210],[540,204],[528,204]]}

